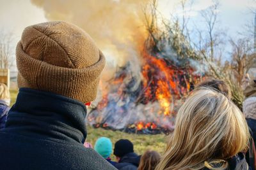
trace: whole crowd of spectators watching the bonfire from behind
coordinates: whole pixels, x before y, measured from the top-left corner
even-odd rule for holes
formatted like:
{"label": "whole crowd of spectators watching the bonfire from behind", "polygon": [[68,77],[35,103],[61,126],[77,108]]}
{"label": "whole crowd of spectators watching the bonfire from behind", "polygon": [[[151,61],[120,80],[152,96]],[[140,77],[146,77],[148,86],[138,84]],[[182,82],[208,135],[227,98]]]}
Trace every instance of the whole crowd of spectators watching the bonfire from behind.
{"label": "whole crowd of spectators watching the bonfire from behind", "polygon": [[163,155],[137,155],[128,139],[114,147],[103,136],[94,147],[85,142],[86,106],[105,64],[86,32],[67,22],[31,25],[16,60],[19,94],[11,109],[0,84],[0,169],[255,169],[255,77],[246,79],[243,113],[225,82],[200,83],[180,106]]}

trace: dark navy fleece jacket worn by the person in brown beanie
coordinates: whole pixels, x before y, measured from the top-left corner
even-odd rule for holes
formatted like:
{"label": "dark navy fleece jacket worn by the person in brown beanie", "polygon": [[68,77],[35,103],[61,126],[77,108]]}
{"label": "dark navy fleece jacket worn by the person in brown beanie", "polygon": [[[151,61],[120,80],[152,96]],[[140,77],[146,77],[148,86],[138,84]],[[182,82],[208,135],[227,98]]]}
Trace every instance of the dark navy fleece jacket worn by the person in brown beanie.
{"label": "dark navy fleece jacket worn by the person in brown beanie", "polygon": [[20,89],[0,131],[1,169],[115,169],[83,146],[85,118],[79,101]]}

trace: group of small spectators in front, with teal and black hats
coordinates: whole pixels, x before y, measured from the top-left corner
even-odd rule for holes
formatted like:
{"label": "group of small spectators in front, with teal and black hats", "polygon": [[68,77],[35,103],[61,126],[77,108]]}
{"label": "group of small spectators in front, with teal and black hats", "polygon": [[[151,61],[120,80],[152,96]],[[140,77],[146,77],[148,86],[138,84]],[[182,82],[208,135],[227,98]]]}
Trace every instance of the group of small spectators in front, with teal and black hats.
{"label": "group of small spectators in front, with teal and black hats", "polygon": [[[93,148],[92,144],[84,143],[86,148]],[[122,170],[154,170],[161,159],[161,155],[154,150],[147,150],[143,155],[134,153],[133,144],[128,139],[116,141],[112,150],[111,139],[100,137],[95,142],[94,149],[116,169]],[[115,155],[116,162],[111,160],[111,153]]]}

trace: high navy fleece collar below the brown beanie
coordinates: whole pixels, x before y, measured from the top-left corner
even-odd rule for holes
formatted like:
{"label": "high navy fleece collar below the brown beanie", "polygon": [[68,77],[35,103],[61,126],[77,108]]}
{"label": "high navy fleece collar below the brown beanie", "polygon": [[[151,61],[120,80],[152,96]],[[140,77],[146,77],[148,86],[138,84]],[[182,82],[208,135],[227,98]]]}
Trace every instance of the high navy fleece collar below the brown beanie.
{"label": "high navy fleece collar below the brown beanie", "polygon": [[68,97],[21,88],[6,129],[16,134],[58,142],[84,143],[86,106]]}

